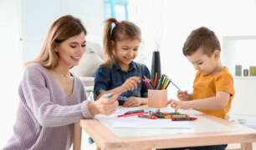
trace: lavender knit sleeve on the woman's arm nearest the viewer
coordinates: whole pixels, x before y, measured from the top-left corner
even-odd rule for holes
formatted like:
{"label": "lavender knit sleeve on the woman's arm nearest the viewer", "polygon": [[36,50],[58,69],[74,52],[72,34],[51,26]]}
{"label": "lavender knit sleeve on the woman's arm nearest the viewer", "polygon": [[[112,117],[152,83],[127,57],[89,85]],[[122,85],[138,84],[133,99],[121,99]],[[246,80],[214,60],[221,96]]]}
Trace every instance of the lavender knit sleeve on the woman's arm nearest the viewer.
{"label": "lavender knit sleeve on the woman's arm nearest the viewer", "polygon": [[[79,119],[93,117],[89,111],[89,101],[71,106],[53,103],[44,74],[39,68],[28,66],[21,83],[24,101],[38,123],[43,127],[64,126]],[[58,96],[58,93],[53,93]]]}

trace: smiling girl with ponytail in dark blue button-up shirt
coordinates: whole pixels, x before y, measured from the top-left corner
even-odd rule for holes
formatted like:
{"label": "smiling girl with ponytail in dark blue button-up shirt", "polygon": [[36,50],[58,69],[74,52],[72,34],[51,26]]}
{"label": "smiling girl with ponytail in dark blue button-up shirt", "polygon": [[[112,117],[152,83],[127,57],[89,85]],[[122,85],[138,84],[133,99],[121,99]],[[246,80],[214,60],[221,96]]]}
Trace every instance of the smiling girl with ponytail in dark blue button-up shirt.
{"label": "smiling girl with ponytail in dark blue button-up shirt", "polygon": [[[112,28],[112,23],[115,27]],[[128,97],[124,107],[136,107],[147,103],[147,87],[144,76],[150,78],[146,65],[134,62],[141,42],[141,30],[128,21],[115,18],[105,21],[103,48],[106,62],[95,72],[95,99],[106,93]]]}

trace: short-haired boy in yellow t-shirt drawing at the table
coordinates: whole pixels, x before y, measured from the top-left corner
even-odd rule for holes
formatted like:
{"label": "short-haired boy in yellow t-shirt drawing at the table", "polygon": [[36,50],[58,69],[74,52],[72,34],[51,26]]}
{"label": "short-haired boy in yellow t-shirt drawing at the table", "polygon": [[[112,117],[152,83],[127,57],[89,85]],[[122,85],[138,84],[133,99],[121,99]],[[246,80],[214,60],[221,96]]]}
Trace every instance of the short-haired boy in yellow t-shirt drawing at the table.
{"label": "short-haired boy in yellow t-shirt drawing at the table", "polygon": [[[178,91],[180,101],[171,99],[176,110],[194,108],[226,119],[234,96],[233,77],[220,61],[221,47],[215,33],[208,28],[197,28],[187,37],[183,54],[197,70],[192,94]],[[196,149],[225,149],[227,145]],[[195,149],[195,148],[189,148]]]}

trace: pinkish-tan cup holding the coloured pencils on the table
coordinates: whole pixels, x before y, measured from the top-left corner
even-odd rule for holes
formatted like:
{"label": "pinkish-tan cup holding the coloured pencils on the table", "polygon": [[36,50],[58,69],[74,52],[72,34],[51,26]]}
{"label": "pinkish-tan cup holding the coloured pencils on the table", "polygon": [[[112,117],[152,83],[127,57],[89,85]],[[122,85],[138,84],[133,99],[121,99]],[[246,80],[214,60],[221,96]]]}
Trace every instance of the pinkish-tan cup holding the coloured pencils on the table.
{"label": "pinkish-tan cup holding the coloured pencils on the table", "polygon": [[166,107],[167,90],[148,90],[148,107]]}

